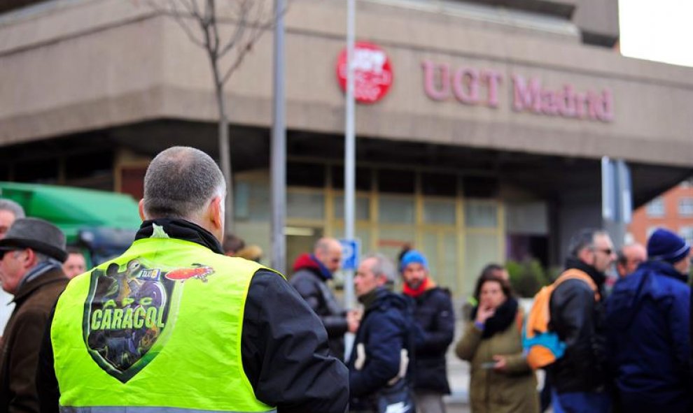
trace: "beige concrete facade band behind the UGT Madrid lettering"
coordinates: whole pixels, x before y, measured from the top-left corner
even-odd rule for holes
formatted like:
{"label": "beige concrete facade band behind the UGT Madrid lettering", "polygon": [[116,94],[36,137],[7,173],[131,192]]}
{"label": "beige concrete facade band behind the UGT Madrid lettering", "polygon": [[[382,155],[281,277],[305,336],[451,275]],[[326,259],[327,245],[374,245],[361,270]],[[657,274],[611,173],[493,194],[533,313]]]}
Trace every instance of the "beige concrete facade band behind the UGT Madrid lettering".
{"label": "beige concrete facade band behind the UGT Madrid lettering", "polygon": [[[0,145],[156,118],[216,119],[209,63],[176,22],[139,2],[71,1],[0,20]],[[344,46],[345,2],[295,0],[287,20],[287,122],[341,133],[335,61]],[[466,24],[466,23],[470,24]],[[358,38],[393,65],[382,101],[358,106],[357,132],[393,140],[487,147],[653,164],[693,164],[693,69],[654,64],[536,36],[463,15],[358,2]],[[232,122],[271,122],[271,36],[253,48],[226,88]],[[423,61],[496,71],[498,106],[433,101]],[[568,119],[512,108],[512,76],[546,91],[613,96],[613,120]],[[484,94],[482,89],[482,94]]]}

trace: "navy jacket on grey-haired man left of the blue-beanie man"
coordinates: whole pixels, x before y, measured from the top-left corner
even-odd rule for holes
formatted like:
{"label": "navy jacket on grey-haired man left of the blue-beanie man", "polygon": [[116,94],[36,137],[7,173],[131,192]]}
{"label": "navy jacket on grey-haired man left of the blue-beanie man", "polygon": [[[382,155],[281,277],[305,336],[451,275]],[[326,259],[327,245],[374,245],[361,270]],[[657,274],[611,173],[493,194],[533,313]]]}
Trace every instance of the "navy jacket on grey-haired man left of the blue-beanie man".
{"label": "navy jacket on grey-haired man left of the blue-beanie man", "polygon": [[[372,397],[400,371],[401,350],[412,354],[411,311],[407,298],[382,288],[375,291],[373,303],[365,308],[349,357],[352,410],[372,410]],[[365,350],[361,368],[357,368],[359,345]]]}

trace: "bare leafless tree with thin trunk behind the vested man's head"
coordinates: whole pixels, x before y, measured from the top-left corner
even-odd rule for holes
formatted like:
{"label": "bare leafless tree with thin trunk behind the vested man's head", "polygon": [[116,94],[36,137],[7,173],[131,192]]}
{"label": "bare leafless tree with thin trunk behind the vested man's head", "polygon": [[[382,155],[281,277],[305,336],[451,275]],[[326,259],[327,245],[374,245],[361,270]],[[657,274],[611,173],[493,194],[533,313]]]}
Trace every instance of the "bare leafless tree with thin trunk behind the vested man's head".
{"label": "bare leafless tree with thin trunk behind the vested man's head", "polygon": [[[273,1],[148,0],[147,3],[159,13],[174,18],[190,41],[207,53],[219,110],[219,160],[228,191],[226,229],[233,231],[229,109],[224,99],[224,85],[262,34],[274,26],[276,16],[272,7]],[[286,10],[281,10],[279,13],[285,12]]]}

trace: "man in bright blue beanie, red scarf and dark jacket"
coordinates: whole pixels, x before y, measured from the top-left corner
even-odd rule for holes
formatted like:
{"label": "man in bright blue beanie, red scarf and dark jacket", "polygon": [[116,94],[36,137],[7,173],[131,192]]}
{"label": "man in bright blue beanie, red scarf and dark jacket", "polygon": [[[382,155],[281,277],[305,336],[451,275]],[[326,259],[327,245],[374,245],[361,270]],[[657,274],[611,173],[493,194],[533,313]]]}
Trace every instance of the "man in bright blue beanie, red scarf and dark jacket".
{"label": "man in bright blue beanie, red scarf and dark jacket", "polygon": [[445,353],[455,331],[450,292],[430,279],[428,260],[416,249],[402,256],[400,271],[403,292],[416,303],[414,319],[419,327],[414,356],[416,407],[421,413],[443,413],[442,395],[450,393]]}

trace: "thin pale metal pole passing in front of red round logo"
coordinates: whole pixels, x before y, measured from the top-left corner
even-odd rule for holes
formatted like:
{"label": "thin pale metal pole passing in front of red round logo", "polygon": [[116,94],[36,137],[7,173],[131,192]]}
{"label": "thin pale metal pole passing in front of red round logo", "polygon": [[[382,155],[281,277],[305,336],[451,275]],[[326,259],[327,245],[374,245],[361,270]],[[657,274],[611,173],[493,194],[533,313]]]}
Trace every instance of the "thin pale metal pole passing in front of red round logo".
{"label": "thin pale metal pole passing in front of red round logo", "polygon": [[[354,191],[356,187],[356,133],[354,131],[354,101],[353,101],[353,49],[354,21],[356,20],[355,0],[346,3],[346,125],[344,133],[344,238],[353,240],[353,210]],[[355,303],[353,293],[353,270],[346,271],[344,277],[344,300],[346,307]],[[353,347],[353,336],[347,335],[344,342],[345,358],[349,357]]]}

